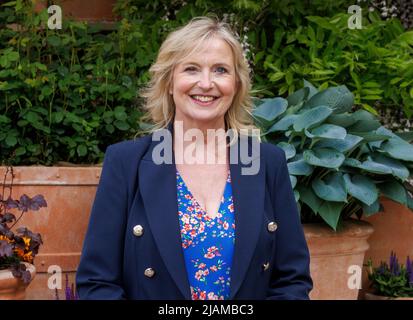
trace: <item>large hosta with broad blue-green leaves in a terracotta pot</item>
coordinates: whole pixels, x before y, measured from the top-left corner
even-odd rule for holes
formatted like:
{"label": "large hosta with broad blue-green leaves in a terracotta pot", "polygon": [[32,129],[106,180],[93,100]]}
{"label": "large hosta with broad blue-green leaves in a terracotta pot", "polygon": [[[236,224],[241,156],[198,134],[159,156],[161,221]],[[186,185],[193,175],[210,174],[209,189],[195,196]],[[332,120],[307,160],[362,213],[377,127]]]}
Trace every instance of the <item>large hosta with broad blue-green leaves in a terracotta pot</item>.
{"label": "large hosta with broad blue-green leaves in a terracotta pot", "polygon": [[318,91],[309,82],[287,99],[256,99],[262,139],[285,151],[303,222],[340,221],[382,210],[380,196],[413,208],[404,183],[413,146],[365,110],[346,86]]}

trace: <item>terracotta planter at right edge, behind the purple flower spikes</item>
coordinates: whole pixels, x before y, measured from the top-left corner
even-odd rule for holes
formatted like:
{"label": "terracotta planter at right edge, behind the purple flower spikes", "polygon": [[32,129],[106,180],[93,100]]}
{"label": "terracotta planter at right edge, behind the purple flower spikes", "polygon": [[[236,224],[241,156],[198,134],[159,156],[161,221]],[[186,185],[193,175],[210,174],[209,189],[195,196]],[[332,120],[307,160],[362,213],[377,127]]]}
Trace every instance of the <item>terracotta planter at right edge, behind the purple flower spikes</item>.
{"label": "terracotta planter at right edge, behind the purple flower spikes", "polygon": [[[369,238],[370,248],[366,252],[365,261],[371,258],[373,265],[381,261],[389,262],[390,252],[394,251],[400,263],[405,263],[406,257],[413,257],[413,212],[392,200],[381,198],[384,212],[379,212],[365,218],[374,228],[374,234]],[[367,272],[363,272],[362,293],[368,290]],[[361,295],[362,297],[362,295]]]}

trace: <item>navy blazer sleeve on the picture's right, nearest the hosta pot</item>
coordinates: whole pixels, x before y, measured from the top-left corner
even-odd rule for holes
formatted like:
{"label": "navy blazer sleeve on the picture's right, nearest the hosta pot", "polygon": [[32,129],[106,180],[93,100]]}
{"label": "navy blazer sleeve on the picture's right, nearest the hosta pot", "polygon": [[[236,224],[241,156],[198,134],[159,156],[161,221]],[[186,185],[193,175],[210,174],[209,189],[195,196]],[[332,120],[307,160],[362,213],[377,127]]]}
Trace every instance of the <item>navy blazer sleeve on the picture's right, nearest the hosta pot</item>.
{"label": "navy blazer sleeve on the picture's right, nearest the hosta pot", "polygon": [[287,161],[282,150],[276,157],[280,166],[272,190],[278,228],[275,232],[275,259],[267,299],[307,300],[313,283],[310,255],[291,186]]}

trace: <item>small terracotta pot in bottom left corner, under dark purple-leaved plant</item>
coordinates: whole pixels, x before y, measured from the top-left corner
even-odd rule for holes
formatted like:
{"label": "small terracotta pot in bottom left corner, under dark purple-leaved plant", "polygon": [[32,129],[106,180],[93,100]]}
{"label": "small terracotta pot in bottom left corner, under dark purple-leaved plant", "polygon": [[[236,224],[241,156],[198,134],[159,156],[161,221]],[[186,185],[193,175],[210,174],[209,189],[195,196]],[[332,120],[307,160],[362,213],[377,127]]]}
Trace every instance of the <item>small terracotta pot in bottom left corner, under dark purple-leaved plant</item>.
{"label": "small terracotta pot in bottom left corner, under dark purple-leaved plant", "polygon": [[[25,265],[33,280],[36,275],[35,266],[29,263],[25,263]],[[21,279],[15,278],[11,271],[0,270],[0,300],[24,300],[28,285]]]}

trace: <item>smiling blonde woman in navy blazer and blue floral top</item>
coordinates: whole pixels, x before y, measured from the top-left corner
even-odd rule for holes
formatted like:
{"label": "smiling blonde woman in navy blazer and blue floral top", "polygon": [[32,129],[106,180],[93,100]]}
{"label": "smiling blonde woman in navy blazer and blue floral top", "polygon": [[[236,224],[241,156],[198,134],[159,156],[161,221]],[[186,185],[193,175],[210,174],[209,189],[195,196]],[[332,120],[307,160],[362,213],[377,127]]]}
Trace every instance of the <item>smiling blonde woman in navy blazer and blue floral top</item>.
{"label": "smiling blonde woman in navy blazer and blue floral top", "polygon": [[144,92],[153,133],[105,154],[81,299],[308,299],[285,155],[243,133],[253,128],[248,71],[240,43],[213,19],[164,41]]}

